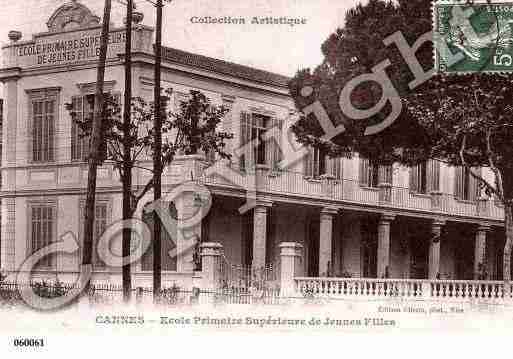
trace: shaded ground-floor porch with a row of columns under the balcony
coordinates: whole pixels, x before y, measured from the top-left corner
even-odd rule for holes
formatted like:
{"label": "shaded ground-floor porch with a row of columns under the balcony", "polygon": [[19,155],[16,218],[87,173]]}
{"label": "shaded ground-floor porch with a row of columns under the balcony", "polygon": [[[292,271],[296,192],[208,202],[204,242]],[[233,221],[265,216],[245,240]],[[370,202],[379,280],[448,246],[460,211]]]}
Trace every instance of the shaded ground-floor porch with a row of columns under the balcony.
{"label": "shaded ground-floor porch with a row of columns under the balcony", "polygon": [[232,265],[280,267],[280,244],[301,245],[302,277],[502,280],[503,229],[440,218],[340,210],[215,195],[202,242]]}

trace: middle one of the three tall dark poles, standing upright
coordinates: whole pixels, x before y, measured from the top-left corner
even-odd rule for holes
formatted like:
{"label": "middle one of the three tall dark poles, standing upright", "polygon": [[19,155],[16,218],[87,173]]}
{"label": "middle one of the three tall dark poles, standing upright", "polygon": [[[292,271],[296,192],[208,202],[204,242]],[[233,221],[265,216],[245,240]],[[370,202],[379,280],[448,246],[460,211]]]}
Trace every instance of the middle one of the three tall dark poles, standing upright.
{"label": "middle one of the three tall dark poles, standing upright", "polygon": [[[130,140],[131,104],[132,104],[132,15],[133,1],[127,1],[126,16],[126,44],[125,44],[125,101],[123,109],[123,220],[131,218],[132,209],[132,144]],[[130,241],[132,232],[123,229],[122,256],[130,257]],[[130,263],[123,264],[123,300],[130,301],[132,293],[132,279]]]}

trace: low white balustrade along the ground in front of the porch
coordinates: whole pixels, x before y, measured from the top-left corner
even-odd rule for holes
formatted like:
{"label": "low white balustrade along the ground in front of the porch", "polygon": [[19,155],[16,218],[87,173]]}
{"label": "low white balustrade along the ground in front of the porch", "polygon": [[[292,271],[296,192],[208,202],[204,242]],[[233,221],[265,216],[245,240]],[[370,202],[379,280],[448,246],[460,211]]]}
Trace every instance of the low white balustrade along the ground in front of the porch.
{"label": "low white balustrade along the ground in front of the porch", "polygon": [[295,278],[304,297],[513,300],[513,282],[368,278]]}

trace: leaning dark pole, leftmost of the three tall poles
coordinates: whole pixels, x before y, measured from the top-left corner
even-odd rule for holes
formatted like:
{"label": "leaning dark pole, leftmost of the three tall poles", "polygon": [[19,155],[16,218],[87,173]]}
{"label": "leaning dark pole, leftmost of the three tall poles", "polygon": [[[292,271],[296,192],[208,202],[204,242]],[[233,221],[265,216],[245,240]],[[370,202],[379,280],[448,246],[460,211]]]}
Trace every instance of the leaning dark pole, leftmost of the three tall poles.
{"label": "leaning dark pole, leftmost of the three tall poles", "polygon": [[[105,9],[103,14],[103,26],[100,38],[100,58],[98,63],[98,72],[96,77],[96,97],[94,102],[93,129],[91,133],[91,149],[88,159],[89,172],[87,175],[87,194],[85,203],[84,220],[84,240],[82,250],[82,268],[81,270],[92,270],[93,255],[93,235],[94,235],[94,214],[96,201],[96,169],[100,157],[100,147],[102,144],[102,114],[103,114],[103,84],[105,78],[105,61],[107,58],[107,46],[109,38],[111,0],[105,0]],[[90,279],[85,283],[85,290],[88,291]]]}

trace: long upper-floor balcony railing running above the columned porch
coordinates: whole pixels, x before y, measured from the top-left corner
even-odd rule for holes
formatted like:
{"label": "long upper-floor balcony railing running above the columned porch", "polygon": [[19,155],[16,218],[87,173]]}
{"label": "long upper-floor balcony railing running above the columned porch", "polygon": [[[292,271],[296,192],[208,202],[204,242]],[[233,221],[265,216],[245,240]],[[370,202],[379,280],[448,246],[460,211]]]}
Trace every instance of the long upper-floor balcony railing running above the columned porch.
{"label": "long upper-floor balcony railing running above the columned porch", "polygon": [[388,184],[378,188],[362,187],[353,179],[312,179],[302,173],[256,169],[252,173],[240,173],[222,164],[211,167],[202,177],[205,184],[257,191],[270,194],[290,195],[321,200],[337,200],[354,204],[389,207],[502,220],[504,210],[495,201],[480,199],[462,201],[452,194],[413,193],[409,188]]}

